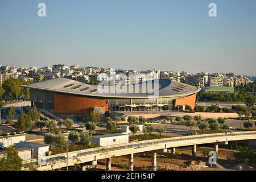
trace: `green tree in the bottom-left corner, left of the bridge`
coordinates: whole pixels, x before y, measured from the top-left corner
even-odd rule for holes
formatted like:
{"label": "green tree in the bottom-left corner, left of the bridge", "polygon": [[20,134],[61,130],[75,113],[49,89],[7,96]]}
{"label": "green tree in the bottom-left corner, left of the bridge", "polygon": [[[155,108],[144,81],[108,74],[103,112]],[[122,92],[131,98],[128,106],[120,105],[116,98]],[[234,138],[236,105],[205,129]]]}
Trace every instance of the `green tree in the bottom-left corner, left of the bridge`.
{"label": "green tree in the bottom-left corner, left of the bridge", "polygon": [[7,155],[0,158],[0,171],[21,171],[22,159],[14,147],[7,148]]}

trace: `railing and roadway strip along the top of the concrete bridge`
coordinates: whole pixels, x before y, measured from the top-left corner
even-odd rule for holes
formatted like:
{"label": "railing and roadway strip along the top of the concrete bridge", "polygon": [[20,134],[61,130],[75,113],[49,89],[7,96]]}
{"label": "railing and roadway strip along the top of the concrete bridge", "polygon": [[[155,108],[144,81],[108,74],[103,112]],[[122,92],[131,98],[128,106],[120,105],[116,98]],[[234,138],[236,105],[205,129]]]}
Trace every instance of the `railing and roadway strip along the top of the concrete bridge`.
{"label": "railing and roadway strip along the top of the concrete bridge", "polygon": [[[85,149],[85,150],[80,150],[80,151],[69,152],[68,154],[71,157],[68,157],[68,159],[73,159],[73,156],[81,157],[81,156],[86,156],[86,155],[98,154],[98,153],[102,153],[102,152],[124,150],[127,148],[150,146],[150,145],[154,145],[154,144],[181,142],[181,141],[186,141],[186,140],[199,140],[199,139],[217,138],[217,137],[239,137],[239,136],[245,136],[245,135],[256,135],[256,131],[190,135],[190,136],[186,136],[186,137],[172,137],[172,138],[163,138],[163,139],[154,139],[154,140],[143,140],[140,142],[131,142],[131,143],[125,143],[125,144],[115,144],[113,146],[97,147],[97,148],[90,148],[90,149]],[[41,159],[27,160],[27,161],[24,161],[24,165],[26,165],[26,164],[27,165],[36,165],[35,163],[46,164],[46,163],[59,162],[61,160],[67,160],[66,153],[47,156],[47,157],[44,157]]]}

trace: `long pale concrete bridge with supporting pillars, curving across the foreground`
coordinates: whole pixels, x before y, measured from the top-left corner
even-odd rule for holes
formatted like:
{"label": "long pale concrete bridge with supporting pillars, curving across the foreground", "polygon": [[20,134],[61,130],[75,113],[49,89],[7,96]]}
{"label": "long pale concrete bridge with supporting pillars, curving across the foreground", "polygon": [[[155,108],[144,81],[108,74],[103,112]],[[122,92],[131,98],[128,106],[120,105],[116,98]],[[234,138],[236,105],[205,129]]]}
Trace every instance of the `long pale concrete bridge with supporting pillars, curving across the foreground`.
{"label": "long pale concrete bridge with supporting pillars, curving across the foreground", "polygon": [[243,131],[234,133],[217,133],[204,135],[191,135],[186,137],[173,137],[164,139],[144,140],[141,142],[130,142],[126,144],[117,144],[108,147],[90,148],[81,151],[68,152],[46,156],[44,158],[27,160],[25,165],[31,165],[38,168],[38,170],[52,170],[61,167],[73,166],[75,164],[85,166],[97,164],[97,160],[107,159],[107,169],[111,169],[111,158],[114,156],[129,155],[129,169],[133,171],[133,154],[140,152],[152,151],[152,170],[156,170],[156,153],[167,152],[171,148],[175,153],[175,147],[193,146],[192,154],[196,156],[196,145],[213,143],[214,151],[218,152],[218,144],[228,144],[229,141],[234,140],[250,140],[256,139],[256,131]]}

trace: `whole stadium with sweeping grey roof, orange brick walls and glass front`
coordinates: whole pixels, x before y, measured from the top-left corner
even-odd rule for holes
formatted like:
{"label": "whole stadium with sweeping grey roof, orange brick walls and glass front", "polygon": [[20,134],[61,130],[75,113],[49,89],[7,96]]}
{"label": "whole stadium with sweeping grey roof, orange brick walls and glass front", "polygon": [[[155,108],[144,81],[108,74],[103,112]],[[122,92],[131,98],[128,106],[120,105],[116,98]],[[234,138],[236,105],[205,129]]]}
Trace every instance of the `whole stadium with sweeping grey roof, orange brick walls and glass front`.
{"label": "whole stadium with sweeping grey roof, orange brick walls and glass front", "polygon": [[[82,115],[90,113],[94,107],[101,108],[102,113],[173,110],[181,105],[189,105],[192,109],[195,107],[196,94],[200,88],[168,79],[152,80],[152,94],[148,92],[148,82],[121,86],[127,91],[124,93],[112,92],[113,86],[103,86],[105,92],[102,92],[97,85],[67,78],[55,78],[23,87],[31,90],[31,106],[55,114]],[[139,91],[134,88],[139,88]]]}

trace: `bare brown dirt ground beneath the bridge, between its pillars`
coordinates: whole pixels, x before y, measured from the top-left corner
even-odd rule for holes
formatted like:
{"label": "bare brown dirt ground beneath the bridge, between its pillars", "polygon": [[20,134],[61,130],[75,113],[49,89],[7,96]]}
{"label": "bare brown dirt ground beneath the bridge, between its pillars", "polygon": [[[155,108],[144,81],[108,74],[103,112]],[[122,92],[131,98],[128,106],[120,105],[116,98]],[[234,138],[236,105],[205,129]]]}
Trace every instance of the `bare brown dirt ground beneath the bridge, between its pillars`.
{"label": "bare brown dirt ground beneath the bridge, between its pillars", "polygon": [[[127,170],[129,163],[128,156],[112,158],[112,171]],[[97,165],[98,169],[106,169],[105,160]],[[174,159],[170,154],[160,154],[157,156],[158,171],[253,171],[253,167],[246,164],[237,164],[232,160],[219,160],[217,167],[210,167],[206,158],[192,158],[191,156],[181,156]],[[150,154],[134,155],[134,170],[151,170]]]}

